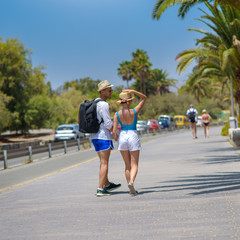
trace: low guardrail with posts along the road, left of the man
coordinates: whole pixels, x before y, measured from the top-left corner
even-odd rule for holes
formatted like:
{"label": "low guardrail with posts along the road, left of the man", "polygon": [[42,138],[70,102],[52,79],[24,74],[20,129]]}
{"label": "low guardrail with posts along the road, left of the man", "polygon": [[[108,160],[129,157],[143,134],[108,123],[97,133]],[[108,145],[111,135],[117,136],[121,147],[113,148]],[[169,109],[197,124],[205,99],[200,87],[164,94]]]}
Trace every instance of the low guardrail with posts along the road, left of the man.
{"label": "low guardrail with posts along the road, left of the man", "polygon": [[89,138],[81,138],[76,140],[60,141],[60,142],[48,142],[40,146],[26,146],[24,148],[18,148],[13,150],[3,150],[0,152],[0,161],[4,161],[4,169],[8,167],[8,160],[18,157],[28,157],[28,162],[32,161],[32,156],[34,154],[48,152],[49,158],[52,157],[52,151],[63,149],[64,153],[67,153],[68,147],[77,146],[80,150],[81,145],[84,143],[89,143],[89,148],[91,147],[91,142]]}

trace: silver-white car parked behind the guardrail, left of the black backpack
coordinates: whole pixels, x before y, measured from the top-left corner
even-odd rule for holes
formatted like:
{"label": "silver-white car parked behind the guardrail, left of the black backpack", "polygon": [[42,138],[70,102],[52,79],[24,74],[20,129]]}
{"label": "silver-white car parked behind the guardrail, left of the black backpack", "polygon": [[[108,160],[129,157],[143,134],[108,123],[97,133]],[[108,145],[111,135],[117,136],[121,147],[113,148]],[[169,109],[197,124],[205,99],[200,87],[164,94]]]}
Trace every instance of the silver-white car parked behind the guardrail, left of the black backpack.
{"label": "silver-white car parked behind the guardrail, left of the black backpack", "polygon": [[54,141],[70,140],[85,137],[85,134],[79,132],[78,124],[62,124],[57,127],[54,133]]}

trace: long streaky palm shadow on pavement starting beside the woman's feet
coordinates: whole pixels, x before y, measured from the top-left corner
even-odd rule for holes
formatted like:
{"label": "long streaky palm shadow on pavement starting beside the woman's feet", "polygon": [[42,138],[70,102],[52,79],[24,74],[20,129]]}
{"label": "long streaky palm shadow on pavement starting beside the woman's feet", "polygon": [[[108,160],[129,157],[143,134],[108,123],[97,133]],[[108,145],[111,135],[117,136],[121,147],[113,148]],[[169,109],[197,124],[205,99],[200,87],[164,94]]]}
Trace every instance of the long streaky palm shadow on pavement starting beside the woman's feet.
{"label": "long streaky palm shadow on pavement starting beside the woman's feet", "polygon": [[[169,185],[169,183],[171,184]],[[190,195],[229,192],[240,190],[240,173],[226,172],[215,175],[185,177],[183,179],[162,182],[161,186],[148,189],[155,189],[157,192],[188,191],[187,194]]]}

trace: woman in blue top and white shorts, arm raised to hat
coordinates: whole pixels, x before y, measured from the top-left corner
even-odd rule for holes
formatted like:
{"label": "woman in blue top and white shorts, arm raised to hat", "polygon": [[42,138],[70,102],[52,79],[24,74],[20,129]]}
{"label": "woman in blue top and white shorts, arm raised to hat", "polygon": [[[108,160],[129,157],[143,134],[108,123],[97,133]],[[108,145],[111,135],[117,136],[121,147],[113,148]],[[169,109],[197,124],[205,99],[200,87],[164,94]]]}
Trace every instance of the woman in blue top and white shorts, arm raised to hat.
{"label": "woman in blue top and white shorts, arm raised to hat", "polygon": [[[130,108],[132,103],[131,94],[141,98],[140,103],[133,109]],[[125,176],[130,190],[130,195],[134,196],[137,191],[134,188],[134,181],[138,172],[139,154],[141,149],[140,139],[136,130],[137,115],[144,106],[147,97],[135,90],[126,89],[119,94],[119,101],[122,109],[114,115],[113,137],[118,141],[118,150],[120,150],[125,162]],[[117,126],[121,125],[121,131],[118,136]]]}

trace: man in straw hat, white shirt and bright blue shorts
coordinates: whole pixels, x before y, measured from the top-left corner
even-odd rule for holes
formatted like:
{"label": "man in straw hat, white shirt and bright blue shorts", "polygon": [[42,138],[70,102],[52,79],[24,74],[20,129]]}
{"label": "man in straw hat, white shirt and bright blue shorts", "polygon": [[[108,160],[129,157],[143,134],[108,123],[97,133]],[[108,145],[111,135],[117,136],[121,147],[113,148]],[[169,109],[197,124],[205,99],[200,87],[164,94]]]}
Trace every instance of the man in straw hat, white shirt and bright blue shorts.
{"label": "man in straw hat, white shirt and bright blue shorts", "polygon": [[121,186],[121,184],[115,184],[109,182],[108,180],[108,162],[111,149],[113,149],[111,135],[113,122],[110,117],[109,104],[106,102],[106,100],[111,98],[112,86],[113,85],[111,85],[107,80],[102,81],[98,84],[98,92],[100,94],[99,98],[104,100],[97,103],[97,119],[101,124],[99,131],[97,133],[91,134],[92,143],[100,159],[99,185],[96,194],[97,196],[110,195],[109,191]]}

